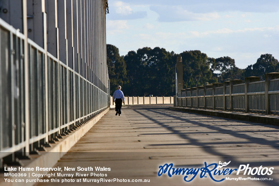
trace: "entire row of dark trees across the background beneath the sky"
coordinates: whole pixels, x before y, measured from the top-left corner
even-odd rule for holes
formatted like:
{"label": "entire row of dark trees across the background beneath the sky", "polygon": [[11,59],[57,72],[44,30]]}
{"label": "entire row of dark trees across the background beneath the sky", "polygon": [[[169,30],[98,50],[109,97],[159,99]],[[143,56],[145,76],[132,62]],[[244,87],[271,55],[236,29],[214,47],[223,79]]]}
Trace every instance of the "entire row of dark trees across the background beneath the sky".
{"label": "entire row of dark trees across the background beneath the sky", "polygon": [[236,67],[234,59],[228,56],[215,59],[199,50],[176,54],[164,48],[144,47],[120,56],[119,49],[108,44],[111,94],[121,85],[127,96],[175,95],[175,65],[179,56],[183,63],[184,88],[244,80],[251,76],[263,80],[265,73],[279,72],[279,62],[271,54],[262,54],[255,64],[240,69]]}

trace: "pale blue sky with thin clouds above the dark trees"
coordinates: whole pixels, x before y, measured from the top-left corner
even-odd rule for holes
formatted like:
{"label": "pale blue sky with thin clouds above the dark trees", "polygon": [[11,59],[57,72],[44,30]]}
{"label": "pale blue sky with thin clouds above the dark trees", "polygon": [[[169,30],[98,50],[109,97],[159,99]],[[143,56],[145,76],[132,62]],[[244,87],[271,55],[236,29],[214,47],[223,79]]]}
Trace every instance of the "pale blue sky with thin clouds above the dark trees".
{"label": "pale blue sky with thin clouds above the dark trees", "polygon": [[109,0],[107,44],[229,56],[239,68],[261,54],[279,60],[278,0]]}

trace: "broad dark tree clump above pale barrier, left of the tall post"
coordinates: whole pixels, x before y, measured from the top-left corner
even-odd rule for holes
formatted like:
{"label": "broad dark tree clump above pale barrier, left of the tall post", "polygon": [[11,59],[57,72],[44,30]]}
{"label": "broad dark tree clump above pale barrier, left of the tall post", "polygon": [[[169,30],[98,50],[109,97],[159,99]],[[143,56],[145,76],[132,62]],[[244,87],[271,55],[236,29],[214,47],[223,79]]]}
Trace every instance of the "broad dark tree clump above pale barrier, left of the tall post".
{"label": "broad dark tree clump above pale barrier, left of the tall post", "polygon": [[144,47],[124,57],[129,79],[129,95],[173,95],[174,53],[163,48]]}

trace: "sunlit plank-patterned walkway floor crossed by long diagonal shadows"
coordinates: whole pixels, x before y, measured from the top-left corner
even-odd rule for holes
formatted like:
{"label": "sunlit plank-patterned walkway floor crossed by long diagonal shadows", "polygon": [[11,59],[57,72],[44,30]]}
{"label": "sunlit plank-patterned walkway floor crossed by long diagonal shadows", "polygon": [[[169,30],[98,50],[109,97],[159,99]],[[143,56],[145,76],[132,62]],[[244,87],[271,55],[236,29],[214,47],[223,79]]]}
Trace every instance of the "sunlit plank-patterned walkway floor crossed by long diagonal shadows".
{"label": "sunlit plank-patterned walkway floor crossed by long diagonal shadows", "polygon": [[[277,126],[189,114],[170,110],[165,105],[136,105],[124,107],[121,116],[115,116],[111,109],[61,158],[56,167],[62,167],[61,173],[74,173],[73,178],[69,175],[59,177],[60,181],[72,178],[73,182],[65,185],[279,185],[278,139]],[[219,164],[219,161],[231,161],[223,167],[229,169],[247,164],[257,167],[253,171],[260,166],[261,170],[265,167],[274,169],[272,175],[243,175],[244,171],[239,175],[236,171],[231,175],[214,175],[217,180],[226,177],[273,180],[215,182],[208,173],[200,178],[200,172],[190,182],[183,180],[186,174],[168,177],[166,172],[158,176],[159,166],[165,163],[190,169],[205,167],[204,162],[208,165]],[[76,170],[66,171],[64,167]],[[77,171],[78,167],[92,167],[94,170]],[[109,168],[110,171],[96,171],[95,167]],[[53,173],[57,175],[58,172]],[[187,180],[193,177],[188,176]],[[101,178],[103,182],[85,182]],[[120,182],[104,182],[114,181],[113,178]],[[138,181],[134,179],[150,182],[128,182]],[[38,185],[55,185],[55,182]]]}

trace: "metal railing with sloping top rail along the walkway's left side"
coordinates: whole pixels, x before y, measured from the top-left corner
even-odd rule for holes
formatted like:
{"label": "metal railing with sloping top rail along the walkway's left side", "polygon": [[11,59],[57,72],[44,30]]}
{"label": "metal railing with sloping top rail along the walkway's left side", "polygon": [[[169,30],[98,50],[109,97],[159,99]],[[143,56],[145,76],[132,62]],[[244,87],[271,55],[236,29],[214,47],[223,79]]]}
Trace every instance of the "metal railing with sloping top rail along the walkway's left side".
{"label": "metal railing with sloping top rail along the walkway's left side", "polygon": [[24,51],[24,42],[0,19],[0,159],[36,151],[109,106],[108,88],[97,76],[88,81],[29,39]]}

